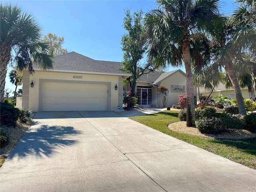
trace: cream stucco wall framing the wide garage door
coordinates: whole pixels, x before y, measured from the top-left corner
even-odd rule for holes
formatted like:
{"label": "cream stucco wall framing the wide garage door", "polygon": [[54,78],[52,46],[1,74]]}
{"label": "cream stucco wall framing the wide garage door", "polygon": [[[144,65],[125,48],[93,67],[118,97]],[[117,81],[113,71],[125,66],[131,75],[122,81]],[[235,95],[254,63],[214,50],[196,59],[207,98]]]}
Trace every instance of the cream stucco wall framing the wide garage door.
{"label": "cream stucco wall framing the wide garage door", "polygon": [[[82,78],[73,78],[73,76],[82,76]],[[86,84],[108,84],[108,110],[117,110],[117,106],[122,107],[122,77],[109,76],[109,75],[94,75],[94,74],[74,74],[74,73],[62,73],[62,72],[42,72],[36,71],[34,75],[29,75],[27,72],[23,73],[25,82],[23,83],[22,103],[23,108],[29,108],[30,110],[37,112],[39,106],[39,94],[42,82],[68,82],[68,83],[86,83]],[[30,87],[30,83],[34,82],[34,87]],[[118,90],[115,90],[115,86],[118,86]],[[26,95],[27,94],[27,95]]]}

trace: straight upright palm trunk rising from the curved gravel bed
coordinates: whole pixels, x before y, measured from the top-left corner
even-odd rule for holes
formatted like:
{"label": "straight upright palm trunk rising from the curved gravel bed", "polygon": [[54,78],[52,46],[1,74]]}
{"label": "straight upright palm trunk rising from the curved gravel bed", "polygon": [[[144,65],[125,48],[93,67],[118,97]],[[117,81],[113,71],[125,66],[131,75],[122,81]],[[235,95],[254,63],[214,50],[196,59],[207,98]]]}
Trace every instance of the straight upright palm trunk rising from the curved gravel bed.
{"label": "straight upright palm trunk rising from the curved gravel bed", "polygon": [[182,47],[182,54],[183,54],[185,69],[186,69],[186,90],[187,90],[187,123],[186,125],[188,127],[195,127],[196,118],[195,118],[194,84],[192,79],[188,37],[186,37],[182,41],[181,47]]}

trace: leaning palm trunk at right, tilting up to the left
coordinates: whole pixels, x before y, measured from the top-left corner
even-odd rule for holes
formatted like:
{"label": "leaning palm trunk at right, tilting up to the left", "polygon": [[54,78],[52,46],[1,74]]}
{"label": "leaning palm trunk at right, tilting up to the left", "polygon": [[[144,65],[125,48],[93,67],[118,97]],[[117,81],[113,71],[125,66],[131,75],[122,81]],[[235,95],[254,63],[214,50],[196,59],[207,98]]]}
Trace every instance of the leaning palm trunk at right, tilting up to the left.
{"label": "leaning palm trunk at right, tilting up to the left", "polygon": [[236,72],[234,70],[234,67],[232,65],[232,61],[227,61],[225,64],[225,70],[228,73],[228,76],[230,78],[230,81],[232,83],[232,86],[235,90],[235,94],[236,94],[236,102],[238,105],[238,109],[239,109],[239,113],[241,115],[246,115],[246,109],[244,106],[244,99],[242,96],[242,92],[238,83],[238,79],[236,76]]}

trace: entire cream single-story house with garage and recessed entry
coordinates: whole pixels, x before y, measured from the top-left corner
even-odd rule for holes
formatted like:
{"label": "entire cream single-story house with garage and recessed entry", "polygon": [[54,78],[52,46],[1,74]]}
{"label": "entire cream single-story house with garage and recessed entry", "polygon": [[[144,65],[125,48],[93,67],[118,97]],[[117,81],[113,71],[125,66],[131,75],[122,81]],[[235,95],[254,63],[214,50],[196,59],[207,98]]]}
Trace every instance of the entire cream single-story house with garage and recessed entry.
{"label": "entire cream single-story house with garage and recessed entry", "polygon": [[[76,52],[53,58],[52,70],[33,64],[35,73],[23,72],[22,108],[40,111],[114,111],[122,109],[128,86],[123,80],[131,76],[122,71],[121,62],[93,60]],[[137,82],[138,104],[163,107],[157,92],[162,84],[169,90],[167,106],[178,103],[186,93],[186,74],[182,70],[142,75]],[[142,96],[147,93],[146,97]],[[144,94],[145,95],[145,94]]]}

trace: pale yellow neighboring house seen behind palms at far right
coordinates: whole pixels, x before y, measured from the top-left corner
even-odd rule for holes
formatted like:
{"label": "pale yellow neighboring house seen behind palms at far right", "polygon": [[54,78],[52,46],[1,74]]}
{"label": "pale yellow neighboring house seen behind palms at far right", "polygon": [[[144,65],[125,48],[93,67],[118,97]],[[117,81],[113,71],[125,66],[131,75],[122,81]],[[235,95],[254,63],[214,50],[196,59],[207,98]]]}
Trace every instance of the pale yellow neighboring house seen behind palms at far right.
{"label": "pale yellow neighboring house seen behind palms at far right", "polygon": [[[242,92],[242,95],[243,95],[244,98],[247,98],[247,99],[250,98],[248,88],[244,88],[244,89],[241,88],[241,92]],[[197,89],[197,94],[198,94],[198,89]],[[210,94],[210,92],[205,90],[204,87],[200,87],[199,88],[199,94],[200,94],[200,97],[208,96]],[[226,96],[228,98],[236,98],[234,88],[226,89],[225,84],[223,84],[223,83],[220,83],[218,87],[214,88],[211,96],[212,97]]]}

